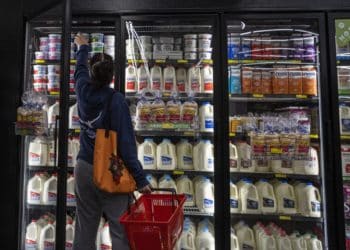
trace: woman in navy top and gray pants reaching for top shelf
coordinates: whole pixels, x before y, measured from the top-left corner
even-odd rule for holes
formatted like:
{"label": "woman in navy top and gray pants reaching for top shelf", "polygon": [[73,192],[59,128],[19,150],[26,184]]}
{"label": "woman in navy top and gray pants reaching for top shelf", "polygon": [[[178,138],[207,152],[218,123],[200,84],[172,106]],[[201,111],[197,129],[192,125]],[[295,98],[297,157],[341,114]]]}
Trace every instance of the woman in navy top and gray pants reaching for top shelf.
{"label": "woman in navy top and gray pants reaching for top shelf", "polygon": [[[113,250],[129,249],[128,240],[119,217],[126,211],[129,196],[109,194],[93,183],[93,155],[96,129],[103,128],[106,115],[111,116],[111,129],[118,132],[120,155],[135,178],[139,192],[150,193],[142,166],[137,159],[134,131],[128,105],[120,93],[109,84],[113,78],[113,60],[106,54],[95,54],[88,67],[88,41],[78,33],[74,42],[78,46],[74,74],[80,118],[80,151],[75,168],[77,198],[74,250],[95,250],[96,234],[102,213],[110,227]],[[107,107],[112,98],[111,110]]]}

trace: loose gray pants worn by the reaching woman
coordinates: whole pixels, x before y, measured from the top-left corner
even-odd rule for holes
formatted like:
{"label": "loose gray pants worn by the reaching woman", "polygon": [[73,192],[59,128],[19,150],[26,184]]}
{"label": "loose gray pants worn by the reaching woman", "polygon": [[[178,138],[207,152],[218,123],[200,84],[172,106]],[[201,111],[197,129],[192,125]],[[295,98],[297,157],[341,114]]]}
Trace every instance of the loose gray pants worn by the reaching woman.
{"label": "loose gray pants worn by the reaching woman", "polygon": [[93,183],[93,166],[78,160],[74,170],[77,199],[74,250],[95,250],[96,234],[104,213],[109,222],[113,250],[128,250],[129,243],[119,217],[127,210],[129,196],[100,191]]}

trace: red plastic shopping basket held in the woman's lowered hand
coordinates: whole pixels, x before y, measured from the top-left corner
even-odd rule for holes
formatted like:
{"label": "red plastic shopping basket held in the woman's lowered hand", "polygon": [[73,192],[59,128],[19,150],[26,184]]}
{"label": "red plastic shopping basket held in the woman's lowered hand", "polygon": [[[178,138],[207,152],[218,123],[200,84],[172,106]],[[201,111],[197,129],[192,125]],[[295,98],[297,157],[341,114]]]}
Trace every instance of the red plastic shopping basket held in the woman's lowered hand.
{"label": "red plastic shopping basket held in the woman's lowered hand", "polygon": [[172,250],[183,227],[185,195],[144,194],[119,219],[132,250]]}

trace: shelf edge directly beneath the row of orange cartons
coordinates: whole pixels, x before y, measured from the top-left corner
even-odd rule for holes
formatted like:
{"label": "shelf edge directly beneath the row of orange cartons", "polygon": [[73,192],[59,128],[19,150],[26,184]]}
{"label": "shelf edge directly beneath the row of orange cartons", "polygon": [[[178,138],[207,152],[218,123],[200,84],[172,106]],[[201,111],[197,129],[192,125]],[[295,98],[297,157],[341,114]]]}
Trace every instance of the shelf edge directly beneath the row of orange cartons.
{"label": "shelf edge directly beneath the row of orange cartons", "polygon": [[308,95],[264,95],[264,94],[231,94],[230,102],[298,102],[317,103],[317,96]]}

